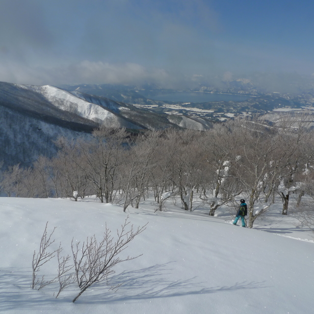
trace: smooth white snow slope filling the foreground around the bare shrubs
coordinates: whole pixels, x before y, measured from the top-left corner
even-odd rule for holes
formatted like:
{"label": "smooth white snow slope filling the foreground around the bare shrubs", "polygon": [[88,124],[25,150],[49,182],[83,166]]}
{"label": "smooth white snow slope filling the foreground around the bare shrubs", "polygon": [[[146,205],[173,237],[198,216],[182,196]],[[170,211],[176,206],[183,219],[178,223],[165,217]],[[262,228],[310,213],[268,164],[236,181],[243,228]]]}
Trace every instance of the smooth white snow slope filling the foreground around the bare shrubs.
{"label": "smooth white snow slope filling the foreground around the bare shrubs", "polygon": [[[220,211],[185,212],[171,202],[154,212],[148,200],[127,213],[94,198],[0,198],[0,312],[7,314],[313,314],[314,243],[293,214],[270,208],[253,229],[233,226]],[[53,247],[71,240],[102,237],[105,223],[114,232],[126,216],[135,227],[148,223],[124,254],[141,257],[120,263],[108,286],[87,289],[76,303],[71,286],[55,299],[57,284],[32,290],[31,261],[48,221],[55,229]],[[279,236],[282,235],[282,236]],[[42,267],[47,279],[56,261]]]}

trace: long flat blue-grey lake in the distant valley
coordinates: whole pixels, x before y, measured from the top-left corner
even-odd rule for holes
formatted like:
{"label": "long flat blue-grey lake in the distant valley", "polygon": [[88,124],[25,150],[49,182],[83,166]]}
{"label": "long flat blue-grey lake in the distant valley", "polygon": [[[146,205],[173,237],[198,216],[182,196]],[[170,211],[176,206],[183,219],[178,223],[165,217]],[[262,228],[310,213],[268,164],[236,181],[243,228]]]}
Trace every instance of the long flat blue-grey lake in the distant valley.
{"label": "long flat blue-grey lake in the distant valley", "polygon": [[182,103],[208,103],[208,102],[242,102],[250,96],[219,94],[206,92],[180,92],[180,91],[138,91],[139,94],[153,100]]}

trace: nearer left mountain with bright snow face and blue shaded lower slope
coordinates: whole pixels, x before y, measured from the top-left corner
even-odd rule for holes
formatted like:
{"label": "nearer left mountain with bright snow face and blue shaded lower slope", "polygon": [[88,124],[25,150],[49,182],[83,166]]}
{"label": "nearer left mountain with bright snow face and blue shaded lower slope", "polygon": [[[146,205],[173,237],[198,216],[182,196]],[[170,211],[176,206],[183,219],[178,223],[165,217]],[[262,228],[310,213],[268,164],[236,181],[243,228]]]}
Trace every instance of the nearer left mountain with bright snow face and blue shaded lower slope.
{"label": "nearer left mountain with bright snow face and blue shaded lower slope", "polygon": [[0,82],[0,161],[5,166],[30,165],[39,155],[56,153],[58,136],[75,140],[105,124],[130,130],[193,128],[206,130],[205,118],[173,116],[137,108],[78,90],[50,85],[31,86]]}

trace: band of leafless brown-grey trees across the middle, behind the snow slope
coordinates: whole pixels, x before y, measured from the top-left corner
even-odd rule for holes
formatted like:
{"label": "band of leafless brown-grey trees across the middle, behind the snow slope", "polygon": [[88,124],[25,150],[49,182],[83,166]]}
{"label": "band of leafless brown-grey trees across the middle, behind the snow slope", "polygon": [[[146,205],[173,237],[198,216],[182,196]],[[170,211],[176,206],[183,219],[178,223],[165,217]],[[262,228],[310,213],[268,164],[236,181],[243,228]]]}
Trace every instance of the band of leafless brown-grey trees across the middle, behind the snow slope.
{"label": "band of leafless brown-grey trees across the middle, behind the snow slope", "polygon": [[[238,118],[209,131],[147,131],[101,127],[92,140],[59,137],[55,157],[38,157],[29,168],[19,164],[2,173],[1,190],[16,197],[96,195],[101,202],[138,208],[148,192],[157,209],[176,196],[193,210],[197,195],[209,215],[244,197],[248,226],[279,194],[287,214],[290,193],[298,203],[312,185],[313,131],[305,117],[285,117],[271,127],[257,118]],[[310,191],[311,192],[311,191]],[[256,210],[259,204],[259,210]]]}

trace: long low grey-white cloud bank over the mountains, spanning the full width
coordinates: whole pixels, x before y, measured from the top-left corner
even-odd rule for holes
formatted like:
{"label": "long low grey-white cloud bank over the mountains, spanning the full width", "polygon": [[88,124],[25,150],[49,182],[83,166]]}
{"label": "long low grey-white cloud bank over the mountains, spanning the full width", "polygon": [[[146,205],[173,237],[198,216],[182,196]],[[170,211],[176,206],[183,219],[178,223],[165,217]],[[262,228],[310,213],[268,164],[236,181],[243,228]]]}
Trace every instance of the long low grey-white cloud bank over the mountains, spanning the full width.
{"label": "long low grey-white cloud bank over the mountains, spanning the full width", "polygon": [[125,84],[141,86],[156,85],[160,88],[191,89],[201,86],[226,88],[232,81],[241,81],[243,87],[256,88],[262,92],[298,94],[313,90],[314,76],[297,73],[261,73],[236,75],[224,72],[208,76],[183,74],[162,68],[147,68],[138,63],[109,63],[84,60],[57,66],[31,67],[14,62],[0,63],[0,81],[31,85],[61,84]]}

